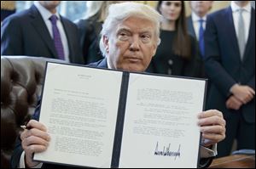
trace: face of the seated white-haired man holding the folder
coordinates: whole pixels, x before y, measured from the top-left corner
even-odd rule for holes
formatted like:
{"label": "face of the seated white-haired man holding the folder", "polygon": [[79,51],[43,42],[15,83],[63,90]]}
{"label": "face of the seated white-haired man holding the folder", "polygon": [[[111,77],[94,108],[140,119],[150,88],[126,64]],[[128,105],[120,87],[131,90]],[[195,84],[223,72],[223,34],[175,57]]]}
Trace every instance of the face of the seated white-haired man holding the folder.
{"label": "face of the seated white-haired man holding the folder", "polygon": [[103,38],[108,63],[117,70],[144,71],[155,54],[157,39],[152,21],[130,17]]}

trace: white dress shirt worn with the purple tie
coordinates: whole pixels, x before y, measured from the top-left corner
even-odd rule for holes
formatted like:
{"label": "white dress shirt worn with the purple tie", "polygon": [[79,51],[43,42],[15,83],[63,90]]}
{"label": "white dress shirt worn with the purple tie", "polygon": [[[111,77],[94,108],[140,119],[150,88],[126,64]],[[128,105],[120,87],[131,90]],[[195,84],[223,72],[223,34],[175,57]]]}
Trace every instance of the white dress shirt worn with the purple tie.
{"label": "white dress shirt worn with the purple tie", "polygon": [[[51,22],[49,20],[49,17],[52,14],[49,12],[48,9],[44,8],[38,1],[35,1],[34,5],[36,6],[36,8],[38,8],[39,13],[42,16],[45,25],[47,26],[47,29],[49,31],[49,35],[53,39],[52,25],[51,25]],[[60,14],[56,13],[55,15],[58,17],[57,27],[58,27],[58,29],[60,31],[60,34],[61,34],[61,42],[62,42],[63,49],[64,49],[64,57],[65,57],[65,60],[67,62],[69,62],[69,48],[68,48],[67,36],[66,36],[65,31],[64,31],[64,27],[61,23]]]}

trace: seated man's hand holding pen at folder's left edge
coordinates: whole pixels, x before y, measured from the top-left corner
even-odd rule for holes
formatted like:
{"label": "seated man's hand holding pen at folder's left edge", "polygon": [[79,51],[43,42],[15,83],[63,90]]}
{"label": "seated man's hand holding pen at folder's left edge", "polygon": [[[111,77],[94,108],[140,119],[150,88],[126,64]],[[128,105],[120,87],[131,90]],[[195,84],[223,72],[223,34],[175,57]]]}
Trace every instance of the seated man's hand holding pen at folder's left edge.
{"label": "seated man's hand holding pen at folder's left edge", "polygon": [[49,145],[49,134],[47,133],[46,127],[35,120],[29,121],[26,127],[31,127],[32,129],[25,129],[24,132],[21,132],[21,145],[25,151],[26,166],[33,167],[37,166],[39,163],[32,161],[32,155],[47,149]]}

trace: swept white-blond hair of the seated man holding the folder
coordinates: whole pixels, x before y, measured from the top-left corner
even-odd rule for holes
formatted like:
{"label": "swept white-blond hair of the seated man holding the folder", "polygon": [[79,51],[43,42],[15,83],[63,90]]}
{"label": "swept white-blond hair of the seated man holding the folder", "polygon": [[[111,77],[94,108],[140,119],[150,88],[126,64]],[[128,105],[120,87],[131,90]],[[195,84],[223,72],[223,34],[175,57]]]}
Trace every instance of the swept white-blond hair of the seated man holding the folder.
{"label": "swept white-blond hair of the seated man holding the folder", "polygon": [[143,3],[116,3],[108,8],[108,17],[102,25],[102,37],[100,48],[102,55],[106,56],[106,49],[103,44],[103,37],[110,37],[111,33],[116,30],[119,23],[130,17],[143,18],[152,21],[155,25],[155,37],[157,45],[160,44],[160,20],[162,18],[154,8]]}

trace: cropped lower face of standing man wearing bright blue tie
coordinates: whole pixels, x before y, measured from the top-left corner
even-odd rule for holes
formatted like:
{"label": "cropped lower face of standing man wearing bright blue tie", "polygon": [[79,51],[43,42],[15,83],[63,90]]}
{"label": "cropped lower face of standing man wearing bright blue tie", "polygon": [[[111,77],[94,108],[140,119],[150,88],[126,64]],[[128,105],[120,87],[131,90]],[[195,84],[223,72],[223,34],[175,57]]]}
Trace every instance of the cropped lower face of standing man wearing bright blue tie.
{"label": "cropped lower face of standing man wearing bright blue tie", "polygon": [[212,8],[213,1],[190,1],[191,9],[195,14],[205,15]]}

